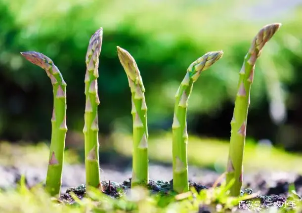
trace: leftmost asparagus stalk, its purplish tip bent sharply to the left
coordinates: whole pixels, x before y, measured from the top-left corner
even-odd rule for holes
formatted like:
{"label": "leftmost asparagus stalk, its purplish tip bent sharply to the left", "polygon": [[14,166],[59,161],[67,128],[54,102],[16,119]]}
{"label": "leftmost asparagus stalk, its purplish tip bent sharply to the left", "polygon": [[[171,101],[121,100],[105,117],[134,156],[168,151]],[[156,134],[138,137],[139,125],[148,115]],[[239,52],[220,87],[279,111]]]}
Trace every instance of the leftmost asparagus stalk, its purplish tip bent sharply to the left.
{"label": "leftmost asparagus stalk, its purplish tip bent sharply to the left", "polygon": [[46,191],[52,196],[60,193],[64,160],[66,126],[66,83],[52,60],[39,52],[21,54],[46,71],[53,87],[53,112],[51,118],[50,154],[46,176]]}

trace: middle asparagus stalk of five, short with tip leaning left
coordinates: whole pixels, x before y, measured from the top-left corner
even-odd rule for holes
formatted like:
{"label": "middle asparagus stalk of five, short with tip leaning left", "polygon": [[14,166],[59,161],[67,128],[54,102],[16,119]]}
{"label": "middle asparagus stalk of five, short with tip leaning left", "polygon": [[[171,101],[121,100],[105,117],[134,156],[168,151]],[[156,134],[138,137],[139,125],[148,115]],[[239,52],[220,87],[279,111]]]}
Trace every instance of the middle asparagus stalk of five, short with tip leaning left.
{"label": "middle asparagus stalk of five, short with tip leaning left", "polygon": [[120,62],[127,74],[131,91],[133,119],[133,154],[131,186],[148,184],[148,127],[145,88],[134,58],[117,46]]}

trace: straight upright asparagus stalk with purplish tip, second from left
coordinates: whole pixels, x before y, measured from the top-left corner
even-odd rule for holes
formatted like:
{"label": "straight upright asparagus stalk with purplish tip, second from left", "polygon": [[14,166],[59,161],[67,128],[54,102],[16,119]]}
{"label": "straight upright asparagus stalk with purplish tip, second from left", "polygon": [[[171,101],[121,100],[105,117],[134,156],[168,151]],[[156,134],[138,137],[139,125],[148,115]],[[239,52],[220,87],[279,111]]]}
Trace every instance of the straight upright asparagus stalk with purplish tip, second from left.
{"label": "straight upright asparagus stalk with purplish tip, second from left", "polygon": [[102,190],[99,167],[99,142],[98,142],[98,63],[102,47],[103,29],[98,29],[90,38],[86,53],[86,75],[85,75],[85,166],[86,185]]}

